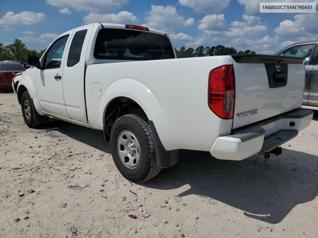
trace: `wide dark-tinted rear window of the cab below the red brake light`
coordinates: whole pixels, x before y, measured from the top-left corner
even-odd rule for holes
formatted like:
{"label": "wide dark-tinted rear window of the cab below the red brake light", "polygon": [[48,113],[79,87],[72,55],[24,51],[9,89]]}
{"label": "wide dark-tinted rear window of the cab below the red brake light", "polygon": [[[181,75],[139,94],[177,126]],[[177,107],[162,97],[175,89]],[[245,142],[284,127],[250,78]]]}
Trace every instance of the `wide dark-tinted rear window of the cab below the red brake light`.
{"label": "wide dark-tinted rear window of the cab below the red brake light", "polygon": [[95,59],[157,60],[174,57],[169,38],[148,31],[100,29],[94,47]]}

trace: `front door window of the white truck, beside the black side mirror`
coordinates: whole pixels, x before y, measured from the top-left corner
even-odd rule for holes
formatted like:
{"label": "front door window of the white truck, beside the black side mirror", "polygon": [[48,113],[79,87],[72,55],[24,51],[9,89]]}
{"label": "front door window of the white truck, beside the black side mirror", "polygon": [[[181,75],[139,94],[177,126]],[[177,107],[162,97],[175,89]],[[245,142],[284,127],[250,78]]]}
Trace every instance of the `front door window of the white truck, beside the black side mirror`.
{"label": "front door window of the white truck, beside the black side mirror", "polygon": [[59,38],[56,42],[53,43],[50,50],[46,53],[45,56],[45,69],[52,69],[52,68],[60,68],[63,53],[65,50],[65,45],[68,39],[67,36],[63,36],[62,38]]}

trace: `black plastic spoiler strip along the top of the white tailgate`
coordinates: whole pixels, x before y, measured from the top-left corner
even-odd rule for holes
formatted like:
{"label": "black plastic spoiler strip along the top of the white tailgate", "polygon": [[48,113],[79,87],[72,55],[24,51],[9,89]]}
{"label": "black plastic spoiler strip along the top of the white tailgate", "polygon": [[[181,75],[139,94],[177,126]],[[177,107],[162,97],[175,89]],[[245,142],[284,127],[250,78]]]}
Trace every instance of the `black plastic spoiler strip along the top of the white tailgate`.
{"label": "black plastic spoiler strip along the top of the white tailgate", "polygon": [[230,55],[236,63],[280,63],[280,64],[302,64],[304,57],[259,55],[259,54],[236,54]]}

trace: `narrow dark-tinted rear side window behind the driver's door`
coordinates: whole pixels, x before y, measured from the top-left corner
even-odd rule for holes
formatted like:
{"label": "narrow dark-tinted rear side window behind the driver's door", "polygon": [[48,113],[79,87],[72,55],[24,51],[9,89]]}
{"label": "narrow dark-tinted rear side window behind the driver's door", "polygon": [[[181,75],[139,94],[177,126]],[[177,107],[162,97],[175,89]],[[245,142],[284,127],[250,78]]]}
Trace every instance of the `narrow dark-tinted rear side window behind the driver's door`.
{"label": "narrow dark-tinted rear side window behind the driver's door", "polygon": [[86,33],[87,29],[75,33],[67,56],[67,67],[72,67],[79,63]]}

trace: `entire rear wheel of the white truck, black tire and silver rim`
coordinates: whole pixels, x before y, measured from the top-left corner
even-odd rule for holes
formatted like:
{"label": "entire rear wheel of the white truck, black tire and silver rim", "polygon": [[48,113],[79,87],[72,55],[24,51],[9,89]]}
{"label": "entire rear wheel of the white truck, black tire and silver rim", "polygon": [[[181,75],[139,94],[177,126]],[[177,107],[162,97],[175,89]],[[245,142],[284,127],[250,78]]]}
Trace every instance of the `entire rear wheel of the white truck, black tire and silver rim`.
{"label": "entire rear wheel of the white truck, black tire and silver rim", "polygon": [[140,114],[118,118],[111,130],[110,145],[119,172],[133,182],[144,182],[159,172],[148,119]]}

